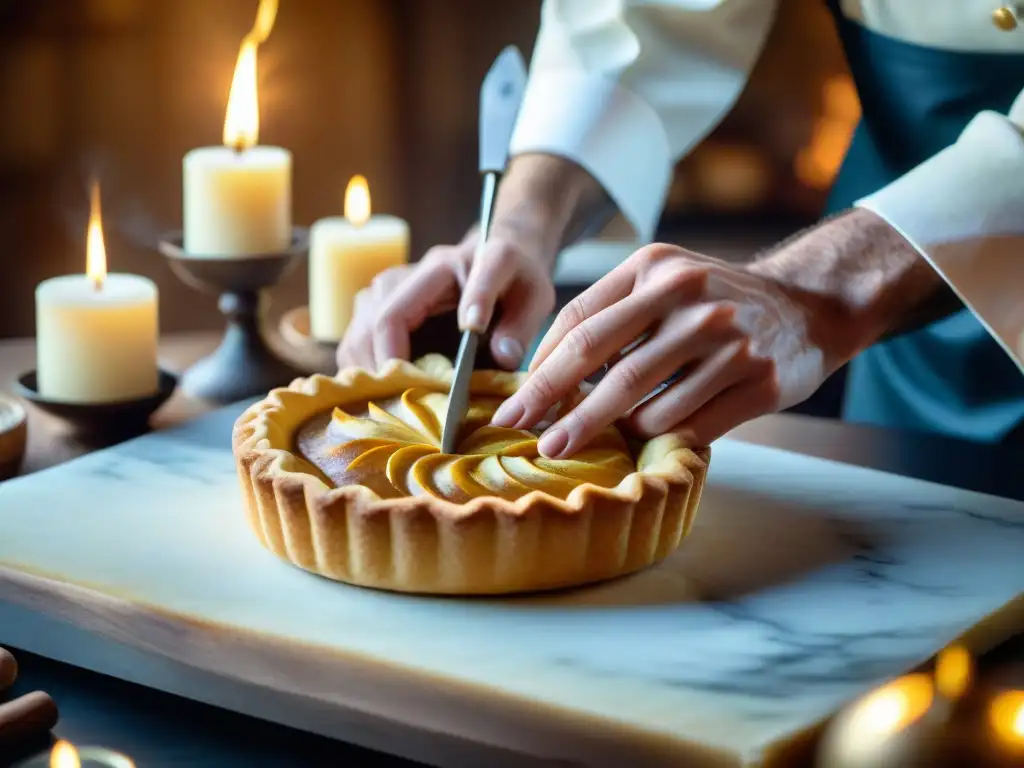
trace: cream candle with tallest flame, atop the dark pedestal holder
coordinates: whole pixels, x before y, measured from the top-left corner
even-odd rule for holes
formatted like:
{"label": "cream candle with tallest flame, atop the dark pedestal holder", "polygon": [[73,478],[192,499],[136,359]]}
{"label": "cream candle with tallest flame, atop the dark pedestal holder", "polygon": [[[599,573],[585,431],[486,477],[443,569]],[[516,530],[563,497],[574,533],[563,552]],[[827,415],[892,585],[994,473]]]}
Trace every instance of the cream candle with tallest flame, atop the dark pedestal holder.
{"label": "cream candle with tallest flame, atop the dark pedestal holder", "polygon": [[242,42],[224,116],[223,146],[183,161],[183,246],[193,256],[231,257],[287,250],[292,239],[292,154],[257,146],[257,49],[273,27],[276,2],[263,0]]}

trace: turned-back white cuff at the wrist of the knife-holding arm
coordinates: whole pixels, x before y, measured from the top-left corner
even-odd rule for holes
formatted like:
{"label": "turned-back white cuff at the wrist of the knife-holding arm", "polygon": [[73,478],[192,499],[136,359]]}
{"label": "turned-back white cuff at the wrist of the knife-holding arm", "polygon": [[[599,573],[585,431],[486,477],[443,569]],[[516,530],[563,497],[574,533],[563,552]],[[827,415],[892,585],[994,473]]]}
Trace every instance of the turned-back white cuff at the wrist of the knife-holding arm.
{"label": "turned-back white cuff at the wrist of the knife-holding arm", "polygon": [[509,147],[579,164],[607,190],[637,240],[649,242],[662,215],[674,162],[657,113],[598,75],[544,73],[530,78]]}

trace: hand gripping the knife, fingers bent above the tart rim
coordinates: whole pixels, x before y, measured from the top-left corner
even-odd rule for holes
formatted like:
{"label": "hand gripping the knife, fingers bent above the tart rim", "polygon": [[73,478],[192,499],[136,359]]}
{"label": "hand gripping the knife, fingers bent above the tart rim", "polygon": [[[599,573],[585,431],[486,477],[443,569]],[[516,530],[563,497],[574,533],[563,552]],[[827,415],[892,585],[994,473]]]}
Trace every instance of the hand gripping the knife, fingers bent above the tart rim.
{"label": "hand gripping the knife, fingers bent above the tart rim", "polygon": [[477,232],[455,246],[436,246],[413,266],[378,274],[355,296],[355,311],[338,347],[338,366],[377,370],[391,357],[409,359],[410,334],[435,314],[459,307],[459,325],[482,333],[496,309],[490,351],[515,369],[555,305],[555,289],[528,236],[493,230],[479,257]]}

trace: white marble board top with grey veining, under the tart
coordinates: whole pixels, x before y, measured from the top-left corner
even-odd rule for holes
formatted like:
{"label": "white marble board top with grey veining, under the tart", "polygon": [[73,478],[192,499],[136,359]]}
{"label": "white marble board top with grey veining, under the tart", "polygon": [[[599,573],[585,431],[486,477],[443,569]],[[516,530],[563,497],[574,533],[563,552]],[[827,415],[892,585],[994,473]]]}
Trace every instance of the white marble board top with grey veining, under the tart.
{"label": "white marble board top with grey veining, under the tart", "polygon": [[[500,600],[353,589],[278,561],[249,532],[229,447],[240,411],[0,485],[0,565],[219,627],[222,642],[322,646],[494,691],[510,718],[515,702],[547,705],[614,724],[627,745],[656,736],[737,761],[1024,590],[1024,504],[730,440],[714,447],[693,534],[659,567]],[[0,626],[0,642],[16,635]],[[362,700],[343,679],[316,687],[305,692]],[[500,715],[430,718],[465,739],[530,743]],[[527,751],[605,764],[567,740]]]}

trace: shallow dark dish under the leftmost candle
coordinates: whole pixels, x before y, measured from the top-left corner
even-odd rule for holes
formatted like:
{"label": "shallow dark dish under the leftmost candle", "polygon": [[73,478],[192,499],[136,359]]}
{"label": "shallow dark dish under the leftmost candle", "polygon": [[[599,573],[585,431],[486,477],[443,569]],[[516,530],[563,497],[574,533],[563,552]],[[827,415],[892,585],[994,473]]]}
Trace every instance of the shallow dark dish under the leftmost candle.
{"label": "shallow dark dish under the leftmost candle", "polygon": [[17,377],[14,392],[40,411],[62,419],[82,432],[125,434],[146,429],[150,417],[174,393],[178,377],[161,369],[159,385],[154,394],[132,400],[61,402],[39,394],[36,371],[32,370]]}

